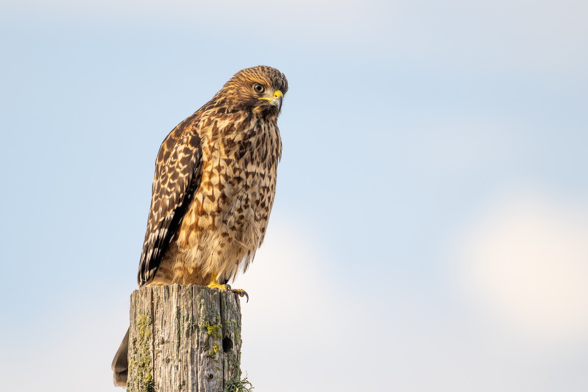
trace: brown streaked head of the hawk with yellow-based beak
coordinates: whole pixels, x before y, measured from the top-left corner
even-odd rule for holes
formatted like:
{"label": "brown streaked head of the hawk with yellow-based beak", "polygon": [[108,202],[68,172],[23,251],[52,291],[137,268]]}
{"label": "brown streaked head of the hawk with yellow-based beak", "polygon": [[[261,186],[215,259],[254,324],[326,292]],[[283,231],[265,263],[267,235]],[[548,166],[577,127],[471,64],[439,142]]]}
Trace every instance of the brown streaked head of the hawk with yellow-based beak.
{"label": "brown streaked head of the hawk with yellow-based beak", "polygon": [[278,69],[258,65],[235,73],[219,91],[218,98],[236,110],[277,117],[288,91],[286,76]]}

